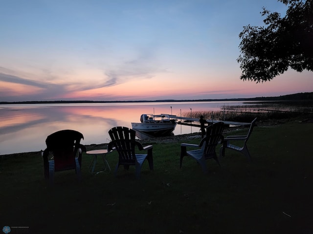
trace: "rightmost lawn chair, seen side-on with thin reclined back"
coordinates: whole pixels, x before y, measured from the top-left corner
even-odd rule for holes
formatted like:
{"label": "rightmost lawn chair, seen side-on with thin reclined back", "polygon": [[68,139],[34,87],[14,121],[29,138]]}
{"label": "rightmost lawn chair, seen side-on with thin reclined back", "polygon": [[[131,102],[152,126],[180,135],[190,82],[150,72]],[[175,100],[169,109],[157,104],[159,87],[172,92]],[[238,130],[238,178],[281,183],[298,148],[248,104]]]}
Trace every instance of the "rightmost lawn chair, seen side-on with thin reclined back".
{"label": "rightmost lawn chair, seen side-on with thin reclined back", "polygon": [[[251,159],[248,147],[246,145],[249,137],[251,136],[253,127],[255,126],[257,118],[253,119],[249,128],[247,135],[244,136],[227,136],[224,138],[223,146],[220,149],[220,156],[225,156],[225,149],[231,149],[237,152],[244,154],[248,159]],[[234,144],[230,144],[231,141],[242,141],[243,146],[238,146]]]}

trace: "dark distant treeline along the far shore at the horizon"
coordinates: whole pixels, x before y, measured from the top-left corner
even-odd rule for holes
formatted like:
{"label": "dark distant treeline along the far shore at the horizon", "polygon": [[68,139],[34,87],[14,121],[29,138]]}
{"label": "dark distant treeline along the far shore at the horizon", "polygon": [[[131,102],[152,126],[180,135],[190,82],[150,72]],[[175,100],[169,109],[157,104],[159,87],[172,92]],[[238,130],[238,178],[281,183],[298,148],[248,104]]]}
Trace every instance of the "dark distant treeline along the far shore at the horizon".
{"label": "dark distant treeline along the far shore at the horizon", "polygon": [[197,99],[197,100],[140,100],[140,101],[89,101],[89,100],[56,100],[56,101],[1,101],[0,104],[51,104],[51,103],[128,103],[128,102],[184,102],[184,101],[291,101],[291,100],[313,100],[313,92],[297,93],[279,97],[257,97],[257,98],[226,98],[226,99]]}

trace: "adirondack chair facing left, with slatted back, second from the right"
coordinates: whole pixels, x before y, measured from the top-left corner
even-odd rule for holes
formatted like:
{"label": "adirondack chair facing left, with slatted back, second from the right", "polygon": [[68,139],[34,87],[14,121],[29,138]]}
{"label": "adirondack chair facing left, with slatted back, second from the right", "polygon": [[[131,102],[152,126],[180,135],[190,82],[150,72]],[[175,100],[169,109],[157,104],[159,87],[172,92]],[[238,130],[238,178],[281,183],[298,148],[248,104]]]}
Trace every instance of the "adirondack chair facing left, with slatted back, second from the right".
{"label": "adirondack chair facing left, with slatted back, second from the right", "polygon": [[[187,143],[180,144],[180,168],[184,156],[191,156],[194,158],[200,164],[201,169],[205,174],[208,172],[205,163],[206,159],[213,158],[219,166],[221,166],[216,155],[216,146],[223,142],[223,130],[224,122],[217,122],[206,128],[206,136],[201,139],[199,145]],[[197,147],[200,149],[187,151],[187,147]]]}

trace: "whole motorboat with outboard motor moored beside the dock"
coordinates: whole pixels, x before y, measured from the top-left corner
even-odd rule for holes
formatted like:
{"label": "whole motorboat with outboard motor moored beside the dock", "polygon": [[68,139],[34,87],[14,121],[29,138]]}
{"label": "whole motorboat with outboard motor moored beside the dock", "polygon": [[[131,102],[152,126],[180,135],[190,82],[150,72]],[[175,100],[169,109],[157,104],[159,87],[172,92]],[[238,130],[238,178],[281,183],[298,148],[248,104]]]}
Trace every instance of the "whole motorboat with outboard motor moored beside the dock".
{"label": "whole motorboat with outboard motor moored beside the dock", "polygon": [[171,119],[168,114],[142,114],[140,123],[132,123],[132,128],[152,137],[165,137],[173,135],[176,125],[176,119]]}

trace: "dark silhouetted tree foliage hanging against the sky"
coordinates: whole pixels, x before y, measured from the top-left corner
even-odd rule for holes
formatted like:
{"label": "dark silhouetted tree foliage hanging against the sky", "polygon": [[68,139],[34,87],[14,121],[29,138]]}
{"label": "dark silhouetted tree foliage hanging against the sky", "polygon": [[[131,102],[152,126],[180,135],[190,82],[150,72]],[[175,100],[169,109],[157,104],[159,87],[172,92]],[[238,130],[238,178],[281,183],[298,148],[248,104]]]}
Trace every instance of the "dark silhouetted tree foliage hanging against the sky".
{"label": "dark silhouetted tree foliage hanging against the sky", "polygon": [[242,80],[269,81],[290,67],[313,71],[313,0],[278,0],[288,6],[284,17],[266,8],[265,26],[245,26],[239,34]]}

